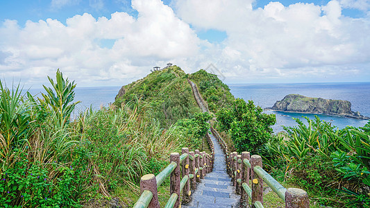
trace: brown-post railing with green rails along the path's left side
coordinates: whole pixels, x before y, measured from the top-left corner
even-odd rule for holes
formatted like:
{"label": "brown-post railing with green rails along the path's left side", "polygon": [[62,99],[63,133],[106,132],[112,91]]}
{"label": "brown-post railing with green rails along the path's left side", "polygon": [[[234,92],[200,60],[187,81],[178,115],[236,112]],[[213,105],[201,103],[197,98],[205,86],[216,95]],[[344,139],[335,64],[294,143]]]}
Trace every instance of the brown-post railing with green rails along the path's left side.
{"label": "brown-post railing with green rails along the path's left side", "polygon": [[[210,146],[211,154],[200,152],[199,150],[189,151],[188,148],[182,148],[181,154],[171,153],[170,164],[158,175],[146,174],[140,180],[140,198],[134,205],[134,208],[158,208],[158,187],[170,177],[169,200],[166,208],[180,207],[181,203],[187,203],[191,200],[192,191],[196,188],[196,182],[200,182],[206,173],[210,173],[215,161],[215,146],[210,135],[206,135]],[[180,175],[182,177],[180,177]],[[183,194],[180,202],[180,194]]]}

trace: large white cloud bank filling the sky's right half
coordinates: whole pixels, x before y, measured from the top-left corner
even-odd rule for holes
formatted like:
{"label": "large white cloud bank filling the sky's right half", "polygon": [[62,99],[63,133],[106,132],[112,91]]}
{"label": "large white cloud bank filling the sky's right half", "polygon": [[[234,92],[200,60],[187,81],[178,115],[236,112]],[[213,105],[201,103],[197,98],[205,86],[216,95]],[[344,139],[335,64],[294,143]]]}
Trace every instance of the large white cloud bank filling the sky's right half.
{"label": "large white cloud bank filling the sky's right half", "polygon": [[296,71],[302,79],[305,72],[346,65],[337,70],[344,76],[348,64],[369,64],[369,19],[344,17],[338,1],[287,7],[270,2],[256,10],[251,1],[212,2],[215,8],[207,12],[206,1],[177,0],[176,12],[196,28],[226,31],[218,50],[221,60],[212,61],[233,71],[235,78],[283,78]]}

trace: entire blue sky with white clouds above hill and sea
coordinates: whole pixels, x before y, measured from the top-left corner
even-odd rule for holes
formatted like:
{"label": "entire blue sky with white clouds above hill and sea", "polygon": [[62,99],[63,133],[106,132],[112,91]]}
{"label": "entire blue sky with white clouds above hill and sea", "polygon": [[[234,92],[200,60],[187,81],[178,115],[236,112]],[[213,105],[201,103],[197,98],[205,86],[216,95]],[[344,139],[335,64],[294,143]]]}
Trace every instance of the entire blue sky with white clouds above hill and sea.
{"label": "entire blue sky with white clouds above hill and sea", "polygon": [[[370,1],[0,1],[0,75],[39,85],[57,68],[122,85],[174,62],[226,83],[369,81]],[[26,24],[26,22],[28,22]]]}

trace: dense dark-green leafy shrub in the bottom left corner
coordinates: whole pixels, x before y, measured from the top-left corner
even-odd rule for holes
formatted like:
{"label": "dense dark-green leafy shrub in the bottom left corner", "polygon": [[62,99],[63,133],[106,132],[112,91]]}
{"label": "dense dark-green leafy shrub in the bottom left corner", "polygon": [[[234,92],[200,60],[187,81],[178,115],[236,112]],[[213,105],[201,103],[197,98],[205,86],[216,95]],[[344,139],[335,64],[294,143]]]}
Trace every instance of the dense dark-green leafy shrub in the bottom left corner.
{"label": "dense dark-green leafy shrub in the bottom left corner", "polygon": [[[39,163],[31,163],[26,153],[19,152],[19,160],[1,177],[0,203],[3,207],[80,207],[79,193],[73,189],[85,177],[71,168],[61,168],[57,181]],[[54,164],[57,168],[57,164]]]}

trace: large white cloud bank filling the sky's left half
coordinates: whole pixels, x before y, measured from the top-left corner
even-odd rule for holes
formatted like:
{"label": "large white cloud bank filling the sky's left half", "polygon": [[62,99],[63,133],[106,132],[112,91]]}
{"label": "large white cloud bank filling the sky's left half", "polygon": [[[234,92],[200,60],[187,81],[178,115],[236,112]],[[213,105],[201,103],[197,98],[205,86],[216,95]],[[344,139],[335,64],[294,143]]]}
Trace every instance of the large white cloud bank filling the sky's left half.
{"label": "large white cloud bank filling the sky's left half", "polygon": [[[6,78],[33,77],[27,80],[32,83],[60,68],[82,85],[121,85],[144,76],[158,60],[197,53],[198,37],[171,8],[160,0],[132,3],[137,19],[115,12],[110,19],[76,15],[66,24],[47,19],[20,27],[17,21],[4,21],[0,73]],[[106,39],[114,41],[111,49],[99,46]]]}

